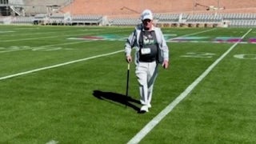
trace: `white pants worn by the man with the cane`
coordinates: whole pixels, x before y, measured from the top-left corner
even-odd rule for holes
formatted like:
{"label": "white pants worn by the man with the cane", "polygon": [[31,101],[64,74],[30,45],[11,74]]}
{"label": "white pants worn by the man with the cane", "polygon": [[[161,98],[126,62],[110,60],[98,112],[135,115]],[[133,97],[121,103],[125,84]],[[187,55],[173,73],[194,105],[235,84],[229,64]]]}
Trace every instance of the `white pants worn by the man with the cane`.
{"label": "white pants worn by the man with the cane", "polygon": [[142,105],[150,105],[154,80],[158,75],[158,64],[157,62],[138,62],[135,73],[138,78],[140,102]]}

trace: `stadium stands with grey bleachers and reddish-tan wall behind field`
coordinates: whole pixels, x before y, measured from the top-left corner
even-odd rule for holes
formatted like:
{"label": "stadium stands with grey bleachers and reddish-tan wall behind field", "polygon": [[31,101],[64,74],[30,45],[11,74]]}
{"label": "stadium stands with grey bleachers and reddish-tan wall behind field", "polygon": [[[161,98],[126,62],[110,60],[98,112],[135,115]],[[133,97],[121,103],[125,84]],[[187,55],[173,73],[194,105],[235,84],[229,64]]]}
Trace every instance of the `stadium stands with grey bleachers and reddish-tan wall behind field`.
{"label": "stadium stands with grey bleachers and reddish-tan wall behind field", "polygon": [[255,27],[251,0],[0,0],[0,24],[134,26],[144,9],[162,27]]}

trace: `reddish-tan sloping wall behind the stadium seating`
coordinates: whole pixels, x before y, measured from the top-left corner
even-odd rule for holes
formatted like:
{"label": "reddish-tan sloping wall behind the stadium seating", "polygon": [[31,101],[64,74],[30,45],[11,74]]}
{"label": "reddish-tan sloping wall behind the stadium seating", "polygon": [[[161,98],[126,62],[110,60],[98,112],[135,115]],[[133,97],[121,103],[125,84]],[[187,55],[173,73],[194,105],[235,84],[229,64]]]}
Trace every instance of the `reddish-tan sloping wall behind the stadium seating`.
{"label": "reddish-tan sloping wall behind the stadium seating", "polygon": [[[198,3],[199,5],[195,6]],[[207,6],[213,6],[225,10],[225,12],[256,11],[255,0],[74,0],[63,11],[71,14],[137,14],[144,9],[150,9],[154,13],[193,13],[213,12],[206,10]]]}

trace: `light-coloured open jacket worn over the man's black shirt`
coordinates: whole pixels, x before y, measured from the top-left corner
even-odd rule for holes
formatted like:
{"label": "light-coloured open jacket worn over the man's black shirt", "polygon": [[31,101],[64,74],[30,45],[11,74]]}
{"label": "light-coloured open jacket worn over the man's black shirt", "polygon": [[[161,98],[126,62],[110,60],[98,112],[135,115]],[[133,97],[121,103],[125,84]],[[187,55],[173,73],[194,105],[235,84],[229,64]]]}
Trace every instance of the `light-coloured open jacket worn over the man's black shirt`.
{"label": "light-coloured open jacket worn over the man's black shirt", "polygon": [[[163,60],[165,61],[169,61],[169,48],[166,45],[166,40],[162,34],[162,30],[158,27],[154,27],[152,28],[152,30],[154,30],[155,32],[155,36],[157,38],[157,42],[158,42],[158,48],[160,50],[158,50],[160,53],[158,53],[158,63],[163,62]],[[135,27],[135,30],[132,34],[130,34],[129,38],[127,38],[126,40],[126,44],[125,44],[125,54],[126,56],[130,56],[131,50],[132,48],[135,48],[136,53],[135,53],[135,58],[134,58],[134,62],[135,64],[138,64],[138,51],[140,49],[139,47],[139,38],[140,38],[140,34],[142,31],[142,25],[138,25]]]}

